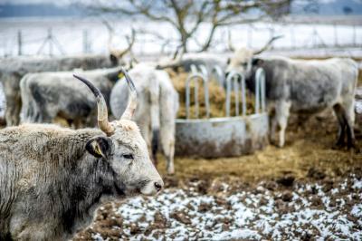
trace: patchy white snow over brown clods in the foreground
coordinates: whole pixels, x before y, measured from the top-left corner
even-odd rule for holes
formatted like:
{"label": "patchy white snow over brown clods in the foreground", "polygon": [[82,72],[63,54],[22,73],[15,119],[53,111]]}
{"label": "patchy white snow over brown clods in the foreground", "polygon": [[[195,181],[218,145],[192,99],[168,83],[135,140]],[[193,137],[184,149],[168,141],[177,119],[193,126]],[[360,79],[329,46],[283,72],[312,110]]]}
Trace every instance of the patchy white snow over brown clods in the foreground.
{"label": "patchy white snow over brown clods in the foreground", "polygon": [[[110,208],[110,218],[123,220],[110,229],[129,240],[362,239],[361,179],[296,184],[292,190],[264,186],[219,185],[214,195],[193,187],[166,189],[157,198],[131,198]],[[92,237],[107,240],[100,233]]]}

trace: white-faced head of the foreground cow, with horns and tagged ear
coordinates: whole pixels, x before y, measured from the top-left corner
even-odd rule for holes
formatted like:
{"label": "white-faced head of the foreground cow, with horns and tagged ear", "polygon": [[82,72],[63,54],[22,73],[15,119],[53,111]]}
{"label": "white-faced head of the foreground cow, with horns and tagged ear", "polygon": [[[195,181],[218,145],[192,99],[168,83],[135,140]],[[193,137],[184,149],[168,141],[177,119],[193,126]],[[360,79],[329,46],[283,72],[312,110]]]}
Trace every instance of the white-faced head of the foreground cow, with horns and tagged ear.
{"label": "white-faced head of the foreground cow, with horns and tagged ear", "polygon": [[146,141],[137,124],[130,120],[137,106],[137,92],[129,74],[123,70],[129,85],[129,104],[119,120],[109,122],[107,104],[100,90],[91,82],[74,75],[94,93],[98,106],[98,125],[107,136],[88,140],[86,149],[96,158],[109,162],[117,191],[126,195],[155,195],[164,183],[149,158]]}

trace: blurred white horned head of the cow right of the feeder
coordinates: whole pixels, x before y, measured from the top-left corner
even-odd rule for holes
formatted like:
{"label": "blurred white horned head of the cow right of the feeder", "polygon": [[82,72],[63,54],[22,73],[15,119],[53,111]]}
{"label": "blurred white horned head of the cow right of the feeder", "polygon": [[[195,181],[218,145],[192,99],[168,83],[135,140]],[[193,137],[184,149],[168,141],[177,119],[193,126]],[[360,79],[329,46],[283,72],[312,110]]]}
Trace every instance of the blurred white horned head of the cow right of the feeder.
{"label": "blurred white horned head of the cow right of the feeder", "polygon": [[[269,49],[271,47],[271,43],[281,37],[282,37],[281,35],[272,37],[271,40],[269,40],[268,43],[266,43],[262,47],[262,49],[258,51],[252,51],[252,49],[245,47],[234,51],[233,57],[229,58],[227,61],[228,66],[226,68],[226,74],[232,71],[241,72],[243,73],[246,79],[249,79],[250,76],[252,75],[252,66],[254,66],[257,63],[260,63],[260,59],[255,58],[254,56]],[[234,50],[230,42],[230,39],[229,39],[229,48],[231,50]]]}

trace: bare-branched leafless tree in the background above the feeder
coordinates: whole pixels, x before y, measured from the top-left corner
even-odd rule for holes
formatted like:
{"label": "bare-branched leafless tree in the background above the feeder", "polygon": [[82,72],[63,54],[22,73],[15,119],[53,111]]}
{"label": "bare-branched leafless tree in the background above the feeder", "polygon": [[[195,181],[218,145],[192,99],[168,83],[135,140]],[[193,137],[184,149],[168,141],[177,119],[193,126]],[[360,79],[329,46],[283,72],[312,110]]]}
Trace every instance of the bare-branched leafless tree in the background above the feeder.
{"label": "bare-branched leafless tree in the background above the feeder", "polygon": [[195,39],[202,23],[209,23],[211,27],[203,42],[196,41],[200,52],[211,46],[218,27],[251,23],[272,14],[280,15],[275,9],[290,2],[291,0],[113,0],[107,5],[98,1],[90,9],[96,13],[144,16],[151,21],[171,24],[179,35],[180,47],[186,53],[187,43],[192,38]]}

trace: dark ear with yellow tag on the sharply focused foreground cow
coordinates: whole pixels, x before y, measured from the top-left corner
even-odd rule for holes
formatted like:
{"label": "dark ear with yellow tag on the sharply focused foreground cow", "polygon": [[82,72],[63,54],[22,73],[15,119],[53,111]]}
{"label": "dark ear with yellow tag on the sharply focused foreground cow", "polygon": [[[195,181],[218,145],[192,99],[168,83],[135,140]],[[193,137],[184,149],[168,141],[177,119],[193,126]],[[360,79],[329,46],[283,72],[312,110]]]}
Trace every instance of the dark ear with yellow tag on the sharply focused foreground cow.
{"label": "dark ear with yellow tag on the sharply focused foreground cow", "polygon": [[96,158],[108,159],[112,148],[112,140],[108,137],[94,137],[87,141],[85,149]]}

